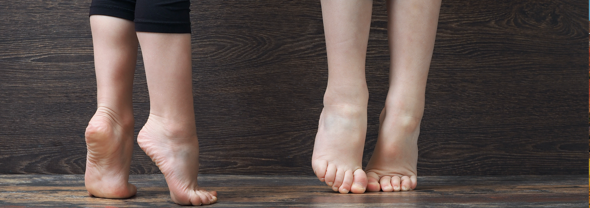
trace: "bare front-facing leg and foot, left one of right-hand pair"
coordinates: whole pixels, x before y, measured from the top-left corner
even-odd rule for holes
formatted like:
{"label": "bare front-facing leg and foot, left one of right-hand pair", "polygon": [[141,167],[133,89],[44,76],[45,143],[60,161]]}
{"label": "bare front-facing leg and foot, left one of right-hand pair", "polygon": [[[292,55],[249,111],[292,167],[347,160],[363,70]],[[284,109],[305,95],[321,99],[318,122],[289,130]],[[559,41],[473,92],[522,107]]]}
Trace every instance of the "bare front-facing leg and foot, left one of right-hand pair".
{"label": "bare front-facing leg and foot, left one of right-hand pair", "polygon": [[362,156],[369,92],[365,56],[372,1],[323,0],[328,85],[313,148],[317,177],[340,193],[363,193]]}

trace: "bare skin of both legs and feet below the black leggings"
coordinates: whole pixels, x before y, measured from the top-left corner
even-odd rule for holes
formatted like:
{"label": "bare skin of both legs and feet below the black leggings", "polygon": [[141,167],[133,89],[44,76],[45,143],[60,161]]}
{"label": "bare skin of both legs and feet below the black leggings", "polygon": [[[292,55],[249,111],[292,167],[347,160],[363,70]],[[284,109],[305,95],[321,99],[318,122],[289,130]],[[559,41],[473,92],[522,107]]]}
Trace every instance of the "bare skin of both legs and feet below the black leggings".
{"label": "bare skin of both legs and feet below the black leggings", "polygon": [[166,178],[173,202],[207,205],[217,192],[199,189],[198,139],[192,98],[191,35],[135,32],[132,21],[92,15],[97,113],[86,129],[89,194],[110,199],[135,195],[129,184],[133,148],[131,92],[141,45],[150,95],[148,122],[137,143]]}

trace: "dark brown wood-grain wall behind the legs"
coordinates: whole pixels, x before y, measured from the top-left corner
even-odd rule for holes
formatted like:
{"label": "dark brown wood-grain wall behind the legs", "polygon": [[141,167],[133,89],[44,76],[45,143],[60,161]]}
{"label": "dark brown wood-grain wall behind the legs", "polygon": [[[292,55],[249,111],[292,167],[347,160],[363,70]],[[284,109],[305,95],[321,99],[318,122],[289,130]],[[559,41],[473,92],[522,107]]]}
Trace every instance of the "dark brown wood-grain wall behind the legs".
{"label": "dark brown wood-grain wall behind the legs", "polygon": [[[0,173],[84,173],[96,108],[90,1],[0,1]],[[586,3],[444,0],[419,175],[585,174]],[[193,1],[201,173],[313,175],[327,81],[319,1]],[[367,57],[375,145],[389,55],[374,1]],[[139,57],[141,58],[141,57]],[[142,62],[136,131],[149,99]],[[158,173],[136,146],[132,173]]]}

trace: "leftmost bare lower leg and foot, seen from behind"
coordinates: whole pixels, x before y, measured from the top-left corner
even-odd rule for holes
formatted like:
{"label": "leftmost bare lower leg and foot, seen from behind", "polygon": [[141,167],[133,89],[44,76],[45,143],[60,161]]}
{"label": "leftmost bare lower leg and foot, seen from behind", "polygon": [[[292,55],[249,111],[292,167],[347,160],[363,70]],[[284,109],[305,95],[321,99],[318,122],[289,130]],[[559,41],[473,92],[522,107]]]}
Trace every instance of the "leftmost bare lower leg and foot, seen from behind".
{"label": "leftmost bare lower leg and foot, seen from behind", "polygon": [[96,67],[98,109],[86,128],[86,189],[96,197],[135,195],[128,183],[133,152],[133,73],[137,36],[133,22],[90,16]]}

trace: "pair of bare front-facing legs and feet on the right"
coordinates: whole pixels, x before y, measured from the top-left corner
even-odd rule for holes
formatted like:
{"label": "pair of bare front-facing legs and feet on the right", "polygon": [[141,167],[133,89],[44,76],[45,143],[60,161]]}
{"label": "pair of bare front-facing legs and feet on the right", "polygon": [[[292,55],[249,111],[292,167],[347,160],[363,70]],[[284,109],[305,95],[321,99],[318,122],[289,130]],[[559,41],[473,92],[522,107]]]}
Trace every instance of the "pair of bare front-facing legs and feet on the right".
{"label": "pair of bare front-facing legs and feet on the right", "polygon": [[[322,1],[329,77],[312,166],[320,180],[333,187],[340,185],[337,190],[349,187],[346,177],[350,176],[338,176],[340,168],[356,169],[362,159],[368,102],[364,66],[371,4],[366,0]],[[407,191],[417,186],[417,140],[440,4],[426,0],[387,1],[389,91],[366,175],[355,172],[352,179],[359,184],[366,182],[368,192]],[[338,182],[340,178],[344,182]],[[352,187],[351,192],[365,190]]]}

